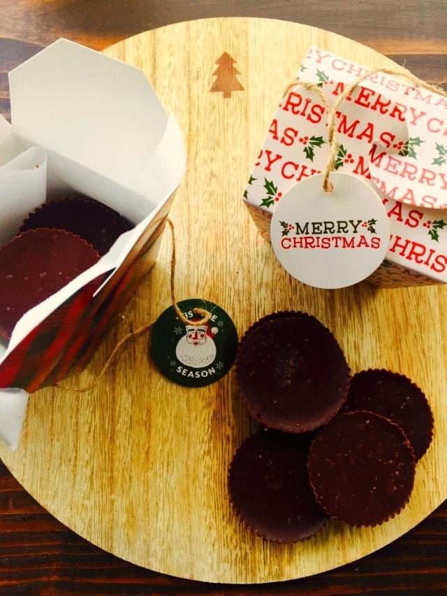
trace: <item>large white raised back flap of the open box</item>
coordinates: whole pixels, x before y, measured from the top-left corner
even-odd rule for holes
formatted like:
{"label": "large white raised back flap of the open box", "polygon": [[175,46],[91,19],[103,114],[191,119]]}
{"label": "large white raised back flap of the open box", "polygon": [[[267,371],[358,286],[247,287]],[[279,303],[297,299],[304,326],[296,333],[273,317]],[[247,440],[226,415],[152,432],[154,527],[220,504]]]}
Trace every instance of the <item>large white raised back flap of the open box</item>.
{"label": "large white raised back flap of the open box", "polygon": [[8,76],[17,138],[127,187],[168,124],[141,69],[66,39]]}

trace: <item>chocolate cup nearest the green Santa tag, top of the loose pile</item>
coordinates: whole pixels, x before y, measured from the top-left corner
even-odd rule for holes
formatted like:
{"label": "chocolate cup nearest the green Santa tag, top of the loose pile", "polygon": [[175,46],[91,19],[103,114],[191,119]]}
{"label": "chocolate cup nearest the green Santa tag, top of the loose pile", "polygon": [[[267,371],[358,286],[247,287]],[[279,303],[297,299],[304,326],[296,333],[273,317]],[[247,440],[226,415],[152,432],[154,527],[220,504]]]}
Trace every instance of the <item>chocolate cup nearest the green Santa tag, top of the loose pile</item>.
{"label": "chocolate cup nearest the green Santa tag, top of the loose pile", "polygon": [[254,323],[240,341],[235,381],[249,415],[268,428],[307,432],[344,404],[351,370],[330,330],[284,311]]}

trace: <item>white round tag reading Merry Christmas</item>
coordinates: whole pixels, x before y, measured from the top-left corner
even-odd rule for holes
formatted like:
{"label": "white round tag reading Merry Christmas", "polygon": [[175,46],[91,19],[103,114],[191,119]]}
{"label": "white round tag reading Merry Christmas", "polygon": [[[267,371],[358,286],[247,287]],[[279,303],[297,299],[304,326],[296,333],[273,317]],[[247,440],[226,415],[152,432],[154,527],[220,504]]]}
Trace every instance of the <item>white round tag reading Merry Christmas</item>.
{"label": "white round tag reading Merry Christmas", "polygon": [[293,277],[315,288],[345,288],[367,278],[388,250],[390,224],[382,201],[358,176],[332,172],[291,187],[270,224],[274,253]]}

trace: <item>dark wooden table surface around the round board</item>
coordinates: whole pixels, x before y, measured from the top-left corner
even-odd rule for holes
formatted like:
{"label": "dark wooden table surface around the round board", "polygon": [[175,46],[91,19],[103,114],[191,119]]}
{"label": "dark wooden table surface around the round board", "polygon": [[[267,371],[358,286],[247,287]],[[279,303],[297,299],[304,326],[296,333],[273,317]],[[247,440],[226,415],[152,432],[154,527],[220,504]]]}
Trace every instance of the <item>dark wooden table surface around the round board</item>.
{"label": "dark wooden table surface around the round board", "polygon": [[[447,89],[447,0],[1,0],[0,113],[7,73],[64,36],[96,50],[147,29],[203,17],[268,17],[369,45]],[[0,289],[1,291],[1,289]],[[447,447],[446,447],[447,448]],[[0,461],[0,593],[447,593],[447,502],[380,551],[330,572],[262,586],[165,576],[92,546],[47,513]]]}

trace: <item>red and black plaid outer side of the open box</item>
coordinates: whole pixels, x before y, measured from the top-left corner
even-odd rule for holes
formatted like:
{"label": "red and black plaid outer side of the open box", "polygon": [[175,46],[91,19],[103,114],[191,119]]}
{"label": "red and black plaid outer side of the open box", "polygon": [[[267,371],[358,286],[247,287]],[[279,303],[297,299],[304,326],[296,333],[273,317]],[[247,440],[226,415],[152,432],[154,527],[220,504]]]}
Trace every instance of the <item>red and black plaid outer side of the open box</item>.
{"label": "red and black plaid outer side of the open box", "polygon": [[3,360],[0,388],[20,387],[29,393],[82,369],[101,342],[114,315],[131,298],[136,285],[154,264],[173,197],[157,213],[109,283],[94,292],[109,273],[82,287],[50,313]]}

